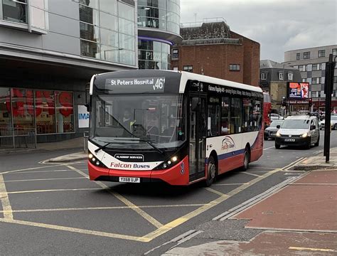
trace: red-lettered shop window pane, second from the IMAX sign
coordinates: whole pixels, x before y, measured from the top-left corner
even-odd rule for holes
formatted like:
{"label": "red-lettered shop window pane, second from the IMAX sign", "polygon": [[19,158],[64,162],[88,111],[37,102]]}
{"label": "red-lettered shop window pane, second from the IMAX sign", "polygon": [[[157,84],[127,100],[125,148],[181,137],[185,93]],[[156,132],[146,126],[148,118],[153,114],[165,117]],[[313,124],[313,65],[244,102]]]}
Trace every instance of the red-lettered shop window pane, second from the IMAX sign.
{"label": "red-lettered shop window pane, second from the IMAX sign", "polygon": [[35,91],[36,132],[50,134],[56,132],[55,95],[53,91]]}

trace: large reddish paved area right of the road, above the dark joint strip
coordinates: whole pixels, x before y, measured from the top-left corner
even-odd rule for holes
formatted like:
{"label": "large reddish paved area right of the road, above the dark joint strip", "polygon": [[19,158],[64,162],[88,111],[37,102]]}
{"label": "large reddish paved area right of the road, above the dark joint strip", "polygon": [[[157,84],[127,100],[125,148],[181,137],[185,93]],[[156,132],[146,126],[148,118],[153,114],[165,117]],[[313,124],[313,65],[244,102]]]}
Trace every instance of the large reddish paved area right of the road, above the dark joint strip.
{"label": "large reddish paved area right of the road, above the dark joint strip", "polygon": [[[249,219],[248,228],[337,232],[337,185],[331,184],[331,181],[322,184],[328,178],[336,177],[336,172],[317,171],[300,178],[235,218]],[[315,178],[318,183],[306,184]]]}

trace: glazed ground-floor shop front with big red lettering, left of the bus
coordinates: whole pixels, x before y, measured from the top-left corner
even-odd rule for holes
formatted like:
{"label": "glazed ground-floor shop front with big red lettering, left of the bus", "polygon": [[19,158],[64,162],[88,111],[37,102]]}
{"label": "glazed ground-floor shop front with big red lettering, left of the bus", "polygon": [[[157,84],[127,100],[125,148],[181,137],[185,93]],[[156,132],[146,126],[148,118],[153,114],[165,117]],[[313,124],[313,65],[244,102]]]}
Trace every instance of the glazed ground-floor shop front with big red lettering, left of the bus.
{"label": "glazed ground-floor shop front with big red lettering, left of the bus", "polygon": [[48,135],[74,134],[74,117],[73,92],[0,87],[0,148],[34,147]]}

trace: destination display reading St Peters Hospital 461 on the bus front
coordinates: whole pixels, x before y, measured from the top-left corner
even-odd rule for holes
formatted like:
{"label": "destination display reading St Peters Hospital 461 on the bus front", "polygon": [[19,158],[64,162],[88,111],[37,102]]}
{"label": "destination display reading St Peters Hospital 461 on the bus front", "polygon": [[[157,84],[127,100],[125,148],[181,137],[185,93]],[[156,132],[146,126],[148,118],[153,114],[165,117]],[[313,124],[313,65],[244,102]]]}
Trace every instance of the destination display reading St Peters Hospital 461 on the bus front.
{"label": "destination display reading St Peters Hospital 461 on the bus front", "polygon": [[110,78],[105,89],[112,92],[164,92],[165,78]]}

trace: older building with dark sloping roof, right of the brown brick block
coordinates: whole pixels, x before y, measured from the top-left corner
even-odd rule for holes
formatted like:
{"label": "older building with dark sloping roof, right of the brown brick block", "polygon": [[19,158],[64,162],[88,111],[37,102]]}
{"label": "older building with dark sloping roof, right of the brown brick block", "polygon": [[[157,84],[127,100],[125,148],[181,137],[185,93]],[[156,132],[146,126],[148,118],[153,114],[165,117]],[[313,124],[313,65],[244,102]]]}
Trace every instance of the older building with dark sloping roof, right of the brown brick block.
{"label": "older building with dark sloping roof, right of the brown brick block", "polygon": [[301,82],[299,70],[272,60],[260,61],[260,87],[270,95],[272,112],[282,113],[282,100],[287,98],[288,82]]}

